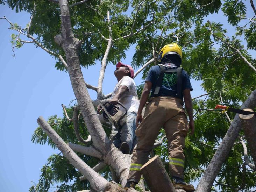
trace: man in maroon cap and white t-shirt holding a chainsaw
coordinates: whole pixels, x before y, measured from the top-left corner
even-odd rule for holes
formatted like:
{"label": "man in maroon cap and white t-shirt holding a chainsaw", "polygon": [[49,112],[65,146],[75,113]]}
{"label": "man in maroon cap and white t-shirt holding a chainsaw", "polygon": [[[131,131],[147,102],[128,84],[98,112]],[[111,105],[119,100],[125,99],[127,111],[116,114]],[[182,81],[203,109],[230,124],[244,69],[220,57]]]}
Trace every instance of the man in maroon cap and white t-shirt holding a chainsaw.
{"label": "man in maroon cap and white t-shirt holding a chainsaw", "polygon": [[[134,70],[130,65],[118,62],[114,75],[118,81],[112,97],[109,102],[117,105],[118,102],[123,104],[127,109],[127,120],[121,129],[112,127],[110,139],[114,139],[113,144],[123,152],[129,154],[136,145],[136,117],[140,101],[138,100],[136,84],[133,80]],[[98,106],[98,111],[100,107]],[[121,107],[122,110],[122,107]]]}

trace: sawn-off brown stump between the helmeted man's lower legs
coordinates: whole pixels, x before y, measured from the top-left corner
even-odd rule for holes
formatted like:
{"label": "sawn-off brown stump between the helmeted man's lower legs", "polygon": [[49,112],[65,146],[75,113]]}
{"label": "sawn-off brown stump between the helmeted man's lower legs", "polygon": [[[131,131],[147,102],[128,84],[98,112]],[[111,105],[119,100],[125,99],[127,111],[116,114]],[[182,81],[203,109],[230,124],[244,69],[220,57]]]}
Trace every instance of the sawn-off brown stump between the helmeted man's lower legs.
{"label": "sawn-off brown stump between the helmeted man's lower legs", "polygon": [[141,167],[141,172],[151,192],[176,192],[158,155],[145,163]]}

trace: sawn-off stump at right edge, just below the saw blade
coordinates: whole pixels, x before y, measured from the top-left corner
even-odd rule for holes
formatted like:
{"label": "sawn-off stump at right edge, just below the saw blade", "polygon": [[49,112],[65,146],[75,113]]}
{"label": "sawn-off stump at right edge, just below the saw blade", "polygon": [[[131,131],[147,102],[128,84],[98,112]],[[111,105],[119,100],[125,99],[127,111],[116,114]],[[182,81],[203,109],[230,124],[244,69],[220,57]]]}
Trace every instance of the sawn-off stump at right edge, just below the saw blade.
{"label": "sawn-off stump at right edge, just below the saw blade", "polygon": [[[253,111],[252,109],[244,109],[246,111]],[[242,127],[246,140],[253,157],[254,165],[256,165],[256,115],[239,115],[242,121]]]}

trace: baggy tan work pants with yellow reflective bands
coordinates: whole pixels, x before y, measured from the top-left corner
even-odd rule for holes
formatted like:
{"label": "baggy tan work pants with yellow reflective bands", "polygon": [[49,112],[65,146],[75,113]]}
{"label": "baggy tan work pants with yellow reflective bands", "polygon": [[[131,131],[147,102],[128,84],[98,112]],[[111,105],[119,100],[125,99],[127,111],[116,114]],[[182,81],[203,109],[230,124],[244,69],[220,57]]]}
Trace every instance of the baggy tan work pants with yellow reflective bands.
{"label": "baggy tan work pants with yellow reflective bands", "polygon": [[151,99],[135,134],[138,143],[133,150],[131,166],[127,181],[140,180],[140,168],[148,161],[161,128],[164,128],[169,151],[169,172],[172,176],[184,178],[183,154],[185,137],[189,131],[186,114],[182,108],[182,100],[171,96],[159,96]]}

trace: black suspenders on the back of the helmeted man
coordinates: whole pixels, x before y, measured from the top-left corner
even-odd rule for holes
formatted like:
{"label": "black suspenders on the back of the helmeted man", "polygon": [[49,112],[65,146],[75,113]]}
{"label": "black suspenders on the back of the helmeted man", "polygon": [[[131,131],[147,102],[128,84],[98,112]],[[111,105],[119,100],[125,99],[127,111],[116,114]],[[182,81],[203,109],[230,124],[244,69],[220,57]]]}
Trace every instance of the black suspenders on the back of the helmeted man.
{"label": "black suspenders on the back of the helmeted man", "polygon": [[156,97],[159,94],[160,88],[162,87],[162,83],[163,83],[164,73],[175,72],[175,73],[177,73],[177,91],[176,91],[175,97],[178,97],[181,100],[183,100],[183,97],[182,97],[182,67],[178,67],[175,69],[166,69],[163,65],[158,65],[158,66],[160,67],[160,74],[156,80],[156,88],[155,88],[153,96]]}

